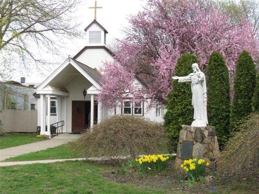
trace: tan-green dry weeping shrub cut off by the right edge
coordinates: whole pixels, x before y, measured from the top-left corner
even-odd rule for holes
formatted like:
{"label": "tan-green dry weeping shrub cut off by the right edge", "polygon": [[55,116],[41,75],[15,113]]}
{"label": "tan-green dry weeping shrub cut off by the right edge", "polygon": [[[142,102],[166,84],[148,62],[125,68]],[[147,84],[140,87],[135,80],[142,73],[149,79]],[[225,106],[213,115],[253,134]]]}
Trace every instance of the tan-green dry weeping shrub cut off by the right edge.
{"label": "tan-green dry weeping shrub cut off by the right edge", "polygon": [[221,153],[219,168],[232,179],[258,177],[259,113],[252,113],[242,121]]}

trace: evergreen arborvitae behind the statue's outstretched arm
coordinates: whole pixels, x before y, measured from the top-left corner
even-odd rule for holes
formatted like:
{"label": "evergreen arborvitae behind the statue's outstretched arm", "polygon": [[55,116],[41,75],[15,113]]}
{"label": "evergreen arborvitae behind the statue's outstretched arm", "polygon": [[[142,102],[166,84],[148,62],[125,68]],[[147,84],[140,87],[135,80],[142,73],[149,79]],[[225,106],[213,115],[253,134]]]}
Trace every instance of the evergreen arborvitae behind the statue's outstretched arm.
{"label": "evergreen arborvitae behind the statue's outstretched arm", "polygon": [[[191,64],[199,63],[193,54],[183,54],[177,60],[174,75],[187,76],[192,73]],[[193,121],[193,107],[191,105],[190,82],[178,83],[173,81],[172,91],[166,103],[167,112],[164,116],[165,127],[173,150],[177,149],[179,133],[182,125],[190,125]]]}

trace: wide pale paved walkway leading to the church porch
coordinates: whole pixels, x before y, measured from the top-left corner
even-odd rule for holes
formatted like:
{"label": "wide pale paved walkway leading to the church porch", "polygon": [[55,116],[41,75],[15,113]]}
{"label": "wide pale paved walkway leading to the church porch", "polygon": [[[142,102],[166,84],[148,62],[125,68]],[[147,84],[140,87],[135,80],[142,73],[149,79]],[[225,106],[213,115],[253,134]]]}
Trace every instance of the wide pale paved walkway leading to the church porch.
{"label": "wide pale paved walkway leading to the church porch", "polygon": [[62,144],[71,142],[77,139],[78,137],[80,137],[80,135],[63,133],[50,140],[0,149],[0,161],[4,161],[5,159],[19,156],[22,154],[48,149],[50,147],[60,146]]}

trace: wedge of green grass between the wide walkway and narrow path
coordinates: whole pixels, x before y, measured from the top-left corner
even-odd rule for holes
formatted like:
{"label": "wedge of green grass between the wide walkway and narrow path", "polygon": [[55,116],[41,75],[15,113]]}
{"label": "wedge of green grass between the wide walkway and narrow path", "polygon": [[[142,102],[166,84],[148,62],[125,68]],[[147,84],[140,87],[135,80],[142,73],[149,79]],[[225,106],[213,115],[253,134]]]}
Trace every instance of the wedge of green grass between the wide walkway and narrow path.
{"label": "wedge of green grass between the wide walkway and narrow path", "polygon": [[68,158],[84,158],[81,152],[74,149],[74,143],[63,144],[48,148],[45,150],[23,154],[14,158],[6,159],[4,162],[14,161],[34,161],[34,160],[51,160],[51,159],[68,159]]}

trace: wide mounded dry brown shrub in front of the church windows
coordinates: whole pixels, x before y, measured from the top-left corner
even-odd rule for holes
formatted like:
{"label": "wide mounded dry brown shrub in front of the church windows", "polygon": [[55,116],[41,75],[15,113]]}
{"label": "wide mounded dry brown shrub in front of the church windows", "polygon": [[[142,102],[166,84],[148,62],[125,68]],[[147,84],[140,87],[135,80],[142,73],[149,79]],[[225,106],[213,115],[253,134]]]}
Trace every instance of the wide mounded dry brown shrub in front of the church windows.
{"label": "wide mounded dry brown shrub in front of the church windows", "polygon": [[[141,117],[114,115],[92,131],[86,131],[77,141],[87,157],[114,159],[130,155],[164,153],[168,138],[162,124]],[[113,160],[113,161],[114,161]]]}

